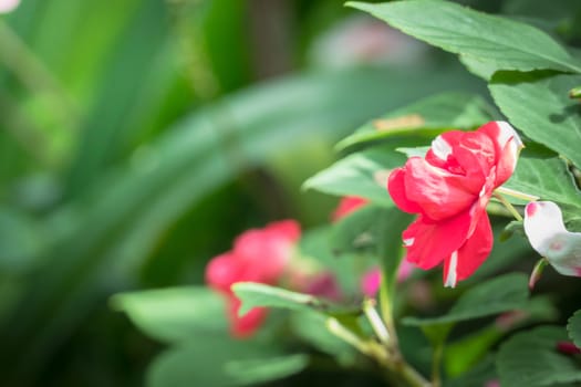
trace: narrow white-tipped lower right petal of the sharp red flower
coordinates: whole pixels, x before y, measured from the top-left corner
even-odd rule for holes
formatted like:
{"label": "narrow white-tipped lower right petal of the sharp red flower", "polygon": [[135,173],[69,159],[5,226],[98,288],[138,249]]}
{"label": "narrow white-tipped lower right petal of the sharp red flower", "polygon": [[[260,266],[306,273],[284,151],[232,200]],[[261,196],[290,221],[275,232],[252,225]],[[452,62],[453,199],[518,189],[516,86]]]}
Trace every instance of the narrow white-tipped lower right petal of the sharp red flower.
{"label": "narrow white-tipped lower right petal of the sharp red flower", "polygon": [[469,278],[490,254],[492,242],[490,220],[484,213],[471,237],[444,262],[446,286],[454,287],[458,281]]}

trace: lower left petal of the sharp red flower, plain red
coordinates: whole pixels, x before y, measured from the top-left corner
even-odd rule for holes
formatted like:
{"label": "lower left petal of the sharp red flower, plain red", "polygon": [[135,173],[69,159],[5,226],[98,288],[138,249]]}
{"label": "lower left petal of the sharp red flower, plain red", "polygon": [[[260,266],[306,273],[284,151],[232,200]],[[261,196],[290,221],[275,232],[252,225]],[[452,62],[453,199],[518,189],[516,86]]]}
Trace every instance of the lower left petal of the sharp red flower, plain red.
{"label": "lower left petal of the sharp red flower, plain red", "polygon": [[469,211],[437,223],[426,223],[418,217],[403,233],[406,259],[424,270],[436,266],[463,245],[470,220]]}

